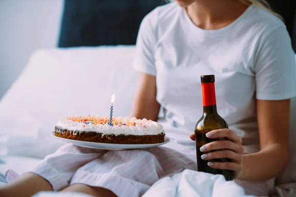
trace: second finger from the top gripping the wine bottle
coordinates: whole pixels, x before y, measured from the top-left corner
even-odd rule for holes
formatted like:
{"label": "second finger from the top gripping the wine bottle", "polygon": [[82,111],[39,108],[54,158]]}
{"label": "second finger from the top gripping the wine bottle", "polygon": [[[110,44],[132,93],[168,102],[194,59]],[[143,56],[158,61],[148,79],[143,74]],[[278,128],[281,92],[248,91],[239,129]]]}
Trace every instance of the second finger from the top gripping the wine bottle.
{"label": "second finger from the top gripping the wine bottle", "polygon": [[213,141],[200,147],[201,152],[208,152],[208,151],[221,150],[221,149],[234,151],[235,153],[238,153],[238,154],[243,154],[244,152],[244,147],[242,145],[238,145],[229,140]]}

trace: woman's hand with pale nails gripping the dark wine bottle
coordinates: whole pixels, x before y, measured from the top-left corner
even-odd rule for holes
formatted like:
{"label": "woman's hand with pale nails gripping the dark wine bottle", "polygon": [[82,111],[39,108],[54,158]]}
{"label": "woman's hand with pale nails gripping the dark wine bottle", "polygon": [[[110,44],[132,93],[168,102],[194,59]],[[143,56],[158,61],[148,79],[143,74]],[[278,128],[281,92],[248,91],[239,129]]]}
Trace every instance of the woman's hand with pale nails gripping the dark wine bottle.
{"label": "woman's hand with pale nails gripping the dark wine bottle", "polygon": [[[231,162],[209,162],[208,165],[216,169],[233,170],[235,172],[234,179],[239,178],[242,171],[244,153],[242,138],[229,129],[213,130],[208,132],[206,136],[208,138],[227,138],[228,140],[218,140],[203,145],[200,151],[205,154],[201,156],[201,159],[231,159]],[[190,139],[195,140],[195,134],[190,135]],[[209,151],[213,152],[209,153]]]}

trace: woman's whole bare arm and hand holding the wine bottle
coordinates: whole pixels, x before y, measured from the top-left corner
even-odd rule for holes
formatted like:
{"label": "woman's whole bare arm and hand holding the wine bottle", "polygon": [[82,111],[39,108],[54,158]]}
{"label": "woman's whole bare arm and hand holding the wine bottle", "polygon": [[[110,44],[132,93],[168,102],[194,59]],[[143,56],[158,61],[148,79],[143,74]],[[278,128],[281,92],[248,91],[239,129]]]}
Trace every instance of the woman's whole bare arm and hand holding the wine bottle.
{"label": "woman's whole bare arm and hand holding the wine bottle", "polygon": [[[290,99],[257,100],[257,114],[260,136],[258,153],[243,155],[241,138],[231,130],[222,129],[208,132],[207,137],[225,137],[229,140],[218,140],[202,146],[201,151],[206,155],[202,159],[231,159],[229,163],[214,162],[208,165],[216,169],[234,170],[234,178],[244,181],[265,181],[282,173],[290,156]],[[194,134],[190,138],[195,140]]]}

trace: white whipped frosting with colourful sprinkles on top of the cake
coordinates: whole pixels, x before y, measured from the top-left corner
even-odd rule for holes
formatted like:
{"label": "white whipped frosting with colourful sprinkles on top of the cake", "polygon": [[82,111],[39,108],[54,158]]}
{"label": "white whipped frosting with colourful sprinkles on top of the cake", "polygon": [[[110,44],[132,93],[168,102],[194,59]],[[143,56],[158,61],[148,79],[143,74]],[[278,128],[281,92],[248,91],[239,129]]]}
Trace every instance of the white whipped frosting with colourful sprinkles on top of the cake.
{"label": "white whipped frosting with colourful sprinkles on top of the cake", "polygon": [[[106,122],[106,124],[86,124],[80,122],[83,120],[87,121],[101,121]],[[61,118],[57,124],[61,129],[67,129],[69,131],[95,131],[104,134],[126,134],[126,135],[155,135],[164,133],[163,127],[157,122],[147,120],[147,119],[137,119],[135,117],[113,117],[113,121],[122,122],[126,125],[113,125],[110,126],[108,116],[67,116]],[[134,124],[135,123],[135,124]],[[132,125],[131,125],[132,124]]]}

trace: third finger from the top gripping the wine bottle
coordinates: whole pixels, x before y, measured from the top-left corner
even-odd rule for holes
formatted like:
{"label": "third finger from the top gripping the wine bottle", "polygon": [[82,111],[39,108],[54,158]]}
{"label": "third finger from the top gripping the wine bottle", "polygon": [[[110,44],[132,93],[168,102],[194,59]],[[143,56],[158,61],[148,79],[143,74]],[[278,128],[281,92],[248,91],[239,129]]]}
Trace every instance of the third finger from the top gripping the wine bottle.
{"label": "third finger from the top gripping the wine bottle", "polygon": [[201,156],[201,159],[203,160],[213,160],[213,159],[221,159],[221,158],[228,158],[231,159],[234,162],[240,162],[242,155],[237,154],[233,151],[229,150],[221,150],[221,151],[215,151],[203,154]]}

